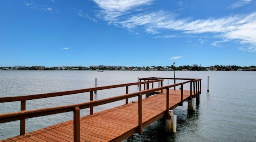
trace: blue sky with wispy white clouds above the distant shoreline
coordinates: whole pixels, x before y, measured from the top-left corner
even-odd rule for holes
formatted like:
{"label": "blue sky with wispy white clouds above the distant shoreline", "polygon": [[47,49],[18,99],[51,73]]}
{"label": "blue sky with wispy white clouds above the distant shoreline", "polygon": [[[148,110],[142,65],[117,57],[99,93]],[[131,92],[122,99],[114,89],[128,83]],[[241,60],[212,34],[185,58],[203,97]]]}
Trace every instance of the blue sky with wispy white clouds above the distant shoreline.
{"label": "blue sky with wispy white clouds above the distant shoreline", "polygon": [[1,0],[0,67],[256,65],[256,0]]}

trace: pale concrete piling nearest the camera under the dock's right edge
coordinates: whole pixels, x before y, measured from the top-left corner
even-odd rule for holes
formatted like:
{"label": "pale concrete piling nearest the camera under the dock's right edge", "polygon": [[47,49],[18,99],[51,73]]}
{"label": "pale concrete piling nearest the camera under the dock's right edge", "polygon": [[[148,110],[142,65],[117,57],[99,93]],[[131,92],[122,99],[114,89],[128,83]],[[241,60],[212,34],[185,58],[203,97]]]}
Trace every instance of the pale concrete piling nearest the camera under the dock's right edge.
{"label": "pale concrete piling nearest the camera under the dock's right edge", "polygon": [[169,115],[165,120],[165,126],[167,130],[170,130],[172,132],[176,132],[176,125],[177,125],[177,116],[173,115],[173,111],[169,110]]}

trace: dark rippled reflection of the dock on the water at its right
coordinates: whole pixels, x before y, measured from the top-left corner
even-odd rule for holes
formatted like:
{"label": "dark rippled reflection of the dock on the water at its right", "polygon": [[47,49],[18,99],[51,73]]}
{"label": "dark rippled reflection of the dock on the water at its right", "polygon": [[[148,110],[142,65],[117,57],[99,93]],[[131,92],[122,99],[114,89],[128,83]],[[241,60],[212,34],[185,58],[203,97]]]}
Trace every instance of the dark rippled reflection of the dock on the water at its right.
{"label": "dark rippled reflection of the dock on the water at its right", "polygon": [[[123,142],[179,142],[191,141],[189,135],[200,133],[200,124],[198,124],[198,118],[200,118],[200,107],[197,106],[193,112],[188,112],[187,103],[181,107],[177,107],[173,110],[174,115],[177,115],[177,132],[172,133],[165,128],[165,119],[160,118],[156,122],[150,124],[143,129],[142,134],[134,134],[124,140]],[[195,139],[196,140],[196,139]],[[200,141],[200,139],[198,139]]]}

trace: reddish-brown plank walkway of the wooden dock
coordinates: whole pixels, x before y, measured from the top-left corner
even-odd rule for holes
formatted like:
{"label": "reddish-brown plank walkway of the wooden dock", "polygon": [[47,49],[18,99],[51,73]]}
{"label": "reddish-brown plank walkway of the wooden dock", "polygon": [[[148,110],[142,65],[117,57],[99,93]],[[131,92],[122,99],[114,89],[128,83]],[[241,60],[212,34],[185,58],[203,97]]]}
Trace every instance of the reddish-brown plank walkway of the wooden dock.
{"label": "reddish-brown plank walkway of the wooden dock", "polygon": [[[139,99],[138,101],[132,103],[126,103],[125,105],[110,108],[108,110],[83,116],[78,118],[78,121],[75,118],[75,115],[79,116],[79,113],[75,114],[74,112],[74,120],[62,122],[60,124],[36,130],[34,132],[29,132],[20,136],[7,138],[1,140],[1,142],[119,142],[125,140],[135,133],[142,133],[142,128],[145,128],[159,118],[168,115],[168,113],[166,113],[166,107],[172,110],[179,105],[182,105],[184,101],[191,99],[191,97],[195,96],[196,94],[194,91],[187,91],[183,89],[154,90],[155,89],[147,89],[147,91],[151,93],[158,92],[159,94],[152,95],[141,100]],[[197,92],[199,92],[199,88]],[[145,91],[144,93],[146,94]],[[169,99],[168,102],[166,98]],[[79,130],[74,130],[74,126],[77,124],[79,126]],[[76,131],[79,131],[79,136],[74,134]]]}

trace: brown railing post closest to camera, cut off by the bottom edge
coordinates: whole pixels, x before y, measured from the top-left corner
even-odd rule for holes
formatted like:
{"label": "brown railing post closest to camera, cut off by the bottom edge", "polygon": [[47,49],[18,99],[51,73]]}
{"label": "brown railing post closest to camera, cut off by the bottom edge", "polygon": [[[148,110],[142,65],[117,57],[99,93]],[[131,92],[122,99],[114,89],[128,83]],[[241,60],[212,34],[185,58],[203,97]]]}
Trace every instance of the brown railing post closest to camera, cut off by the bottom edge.
{"label": "brown railing post closest to camera, cut off by the bottom edge", "polygon": [[80,108],[74,107],[74,142],[80,142]]}

